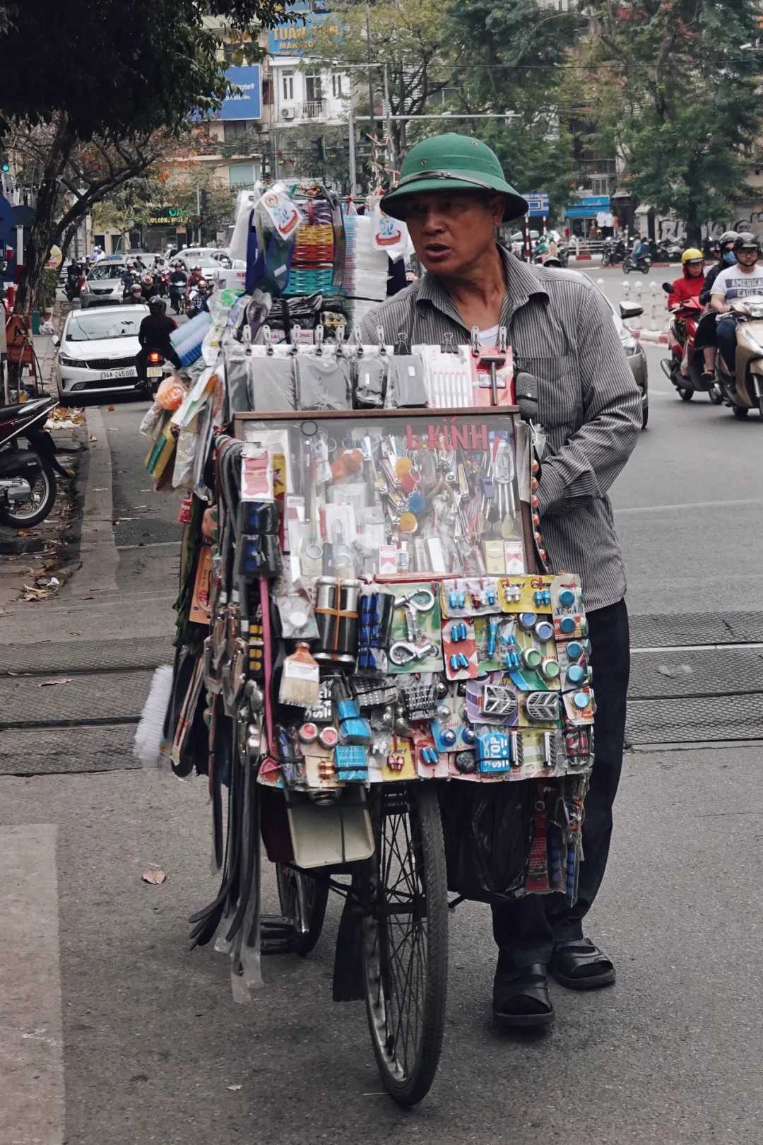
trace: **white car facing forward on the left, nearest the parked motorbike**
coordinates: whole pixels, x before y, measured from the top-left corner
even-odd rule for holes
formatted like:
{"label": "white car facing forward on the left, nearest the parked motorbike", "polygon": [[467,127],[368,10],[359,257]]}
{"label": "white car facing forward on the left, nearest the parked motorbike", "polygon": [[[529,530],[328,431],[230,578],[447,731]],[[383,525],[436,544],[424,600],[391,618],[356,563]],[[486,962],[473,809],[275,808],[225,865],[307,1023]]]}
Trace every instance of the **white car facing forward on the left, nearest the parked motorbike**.
{"label": "white car facing forward on the left, nearest the parked motorbike", "polygon": [[87,394],[140,393],[135,355],[141,349],[137,332],[148,306],[112,306],[108,310],[72,310],[57,347],[53,376],[58,401],[69,405]]}

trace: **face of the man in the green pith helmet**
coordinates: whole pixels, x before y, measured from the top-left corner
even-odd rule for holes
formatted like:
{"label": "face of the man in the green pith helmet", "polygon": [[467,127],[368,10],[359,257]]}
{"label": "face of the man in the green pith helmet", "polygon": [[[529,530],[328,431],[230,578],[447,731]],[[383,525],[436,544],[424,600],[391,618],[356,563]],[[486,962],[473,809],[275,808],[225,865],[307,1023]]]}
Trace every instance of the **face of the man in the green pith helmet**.
{"label": "face of the man in the green pith helmet", "polygon": [[503,196],[422,191],[406,199],[405,221],[421,264],[432,275],[459,275],[495,243]]}

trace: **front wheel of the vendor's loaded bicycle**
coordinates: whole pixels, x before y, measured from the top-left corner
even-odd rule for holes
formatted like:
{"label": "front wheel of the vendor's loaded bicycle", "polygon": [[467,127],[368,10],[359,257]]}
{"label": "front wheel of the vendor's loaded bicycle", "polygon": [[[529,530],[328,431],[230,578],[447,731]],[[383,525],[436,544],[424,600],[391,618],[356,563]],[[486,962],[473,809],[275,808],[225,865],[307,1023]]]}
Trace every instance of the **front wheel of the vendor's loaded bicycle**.
{"label": "front wheel of the vendor's loaded bicycle", "polygon": [[363,919],[366,1016],[384,1089],[412,1106],[435,1080],[447,996],[447,884],[435,784],[383,787],[373,819],[376,848],[363,881],[371,907]]}

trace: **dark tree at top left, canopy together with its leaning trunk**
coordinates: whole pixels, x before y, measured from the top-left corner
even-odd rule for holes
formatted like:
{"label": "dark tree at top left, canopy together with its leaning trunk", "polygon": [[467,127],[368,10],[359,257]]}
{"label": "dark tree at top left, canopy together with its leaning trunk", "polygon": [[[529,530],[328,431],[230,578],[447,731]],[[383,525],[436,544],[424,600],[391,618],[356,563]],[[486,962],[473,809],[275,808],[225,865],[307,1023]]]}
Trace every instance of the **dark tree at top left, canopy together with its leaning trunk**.
{"label": "dark tree at top left, canopy together with its leaning trunk", "polygon": [[[218,106],[223,29],[205,17],[243,29],[283,14],[279,0],[151,0],[150,13],[145,0],[5,0],[0,131],[42,132],[47,142],[17,313],[29,309],[51,244],[158,158],[157,133],[172,136]],[[114,50],[104,50],[109,45]],[[62,173],[90,143],[103,172],[81,195]]]}

